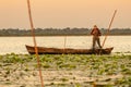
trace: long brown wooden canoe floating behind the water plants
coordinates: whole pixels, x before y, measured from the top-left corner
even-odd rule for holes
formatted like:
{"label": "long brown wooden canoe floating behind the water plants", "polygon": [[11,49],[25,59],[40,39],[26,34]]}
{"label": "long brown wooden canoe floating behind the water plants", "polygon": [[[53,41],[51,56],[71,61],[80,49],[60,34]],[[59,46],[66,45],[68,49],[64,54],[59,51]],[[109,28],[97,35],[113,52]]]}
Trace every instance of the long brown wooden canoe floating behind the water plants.
{"label": "long brown wooden canoe floating behind the water plants", "polygon": [[[25,45],[28,53],[35,54],[35,47]],[[38,54],[110,54],[114,47],[105,49],[59,49],[59,48],[46,48],[37,47]]]}

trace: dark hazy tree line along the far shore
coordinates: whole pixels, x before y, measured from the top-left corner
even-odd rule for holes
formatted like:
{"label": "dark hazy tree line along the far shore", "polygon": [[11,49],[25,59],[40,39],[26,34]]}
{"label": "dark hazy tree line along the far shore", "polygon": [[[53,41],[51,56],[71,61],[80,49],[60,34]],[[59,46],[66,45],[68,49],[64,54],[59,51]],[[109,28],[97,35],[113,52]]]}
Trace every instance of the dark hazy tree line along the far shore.
{"label": "dark hazy tree line along the far shore", "polygon": [[[35,28],[36,36],[87,36],[91,28]],[[108,29],[100,28],[103,35]],[[131,35],[131,28],[111,28],[109,35]],[[32,36],[31,29],[2,28],[0,36]]]}

